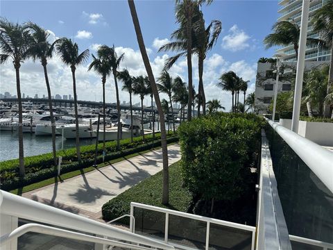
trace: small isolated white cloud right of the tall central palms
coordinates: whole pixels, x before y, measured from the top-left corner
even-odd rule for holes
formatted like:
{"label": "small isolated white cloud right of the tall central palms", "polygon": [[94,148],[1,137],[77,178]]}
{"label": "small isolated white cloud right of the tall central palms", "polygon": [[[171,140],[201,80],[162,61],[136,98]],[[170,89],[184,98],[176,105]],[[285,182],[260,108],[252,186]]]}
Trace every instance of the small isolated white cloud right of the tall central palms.
{"label": "small isolated white cloud right of the tall central palms", "polygon": [[236,24],[229,30],[229,34],[222,39],[222,48],[230,51],[239,51],[250,47],[248,40],[250,36],[243,30],[239,29]]}

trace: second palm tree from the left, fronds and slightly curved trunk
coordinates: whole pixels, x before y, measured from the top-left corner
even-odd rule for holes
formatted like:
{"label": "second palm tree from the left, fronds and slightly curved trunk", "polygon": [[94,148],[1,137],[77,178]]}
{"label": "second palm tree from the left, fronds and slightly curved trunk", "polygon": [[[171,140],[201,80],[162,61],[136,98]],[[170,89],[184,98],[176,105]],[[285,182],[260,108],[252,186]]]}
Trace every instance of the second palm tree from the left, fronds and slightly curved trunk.
{"label": "second palm tree from the left, fronds and slightly curved trunk", "polygon": [[40,60],[42,67],[44,69],[44,78],[47,89],[47,96],[49,101],[49,110],[51,117],[51,132],[52,132],[52,153],[53,153],[53,163],[57,165],[57,153],[56,153],[56,122],[53,117],[53,108],[52,108],[52,100],[51,100],[51,88],[49,83],[49,76],[47,74],[47,60],[51,59],[53,56],[53,51],[55,49],[55,42],[52,44],[49,42],[50,33],[46,31],[44,28],[38,26],[37,24],[33,24],[32,22],[28,22],[25,26],[28,31],[31,32],[32,44],[31,49],[29,50],[29,56],[33,58],[33,60]]}

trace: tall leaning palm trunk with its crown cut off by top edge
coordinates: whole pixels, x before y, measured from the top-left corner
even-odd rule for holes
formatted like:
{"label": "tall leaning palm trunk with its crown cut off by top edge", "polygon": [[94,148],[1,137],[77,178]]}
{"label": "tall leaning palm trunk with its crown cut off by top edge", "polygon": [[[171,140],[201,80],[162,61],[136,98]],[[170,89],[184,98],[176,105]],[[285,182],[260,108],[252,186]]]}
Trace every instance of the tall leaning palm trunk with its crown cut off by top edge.
{"label": "tall leaning palm trunk with its crown cut off by top edge", "polygon": [[149,81],[151,82],[151,89],[153,90],[153,94],[155,97],[157,111],[159,114],[161,114],[160,125],[161,125],[162,158],[163,158],[162,203],[164,205],[167,205],[169,203],[169,164],[168,164],[167,133],[165,131],[165,120],[164,120],[164,115],[162,115],[163,110],[161,106],[160,96],[158,95],[158,90],[155,83],[153,70],[151,69],[151,63],[149,62],[146,46],[144,45],[144,38],[142,37],[142,32],[139,24],[139,19],[137,18],[137,10],[135,10],[134,1],[128,0],[128,6],[130,7],[130,15],[132,16],[133,19],[133,25],[135,28],[135,33],[137,35],[137,43],[139,44],[142,60],[144,61],[144,67],[146,67],[146,72],[148,74]]}

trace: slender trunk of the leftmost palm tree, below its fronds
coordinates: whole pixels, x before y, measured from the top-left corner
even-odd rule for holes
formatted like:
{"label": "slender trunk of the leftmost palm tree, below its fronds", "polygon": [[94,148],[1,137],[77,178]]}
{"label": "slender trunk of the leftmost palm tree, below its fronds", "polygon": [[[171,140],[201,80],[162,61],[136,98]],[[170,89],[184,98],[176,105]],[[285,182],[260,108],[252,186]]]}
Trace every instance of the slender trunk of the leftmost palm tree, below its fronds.
{"label": "slender trunk of the leftmost palm tree, below its fronds", "polygon": [[17,89],[17,101],[19,103],[19,176],[23,177],[25,174],[24,169],[24,151],[23,151],[23,128],[22,128],[22,99],[21,99],[21,86],[19,81],[19,67],[20,63],[15,63],[15,72],[16,72],[16,89]]}

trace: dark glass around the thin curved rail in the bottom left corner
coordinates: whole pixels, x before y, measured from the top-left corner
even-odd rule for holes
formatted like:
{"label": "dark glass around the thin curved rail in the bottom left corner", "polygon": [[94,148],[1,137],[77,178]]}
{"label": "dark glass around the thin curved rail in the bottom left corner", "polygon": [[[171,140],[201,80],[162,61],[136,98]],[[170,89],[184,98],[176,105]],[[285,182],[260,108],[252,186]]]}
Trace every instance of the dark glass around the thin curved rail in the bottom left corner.
{"label": "dark glass around the thin curved rail in the bottom left corner", "polygon": [[[25,219],[19,219],[19,226],[32,223]],[[35,223],[35,222],[33,222]],[[39,223],[40,224],[40,223]],[[52,226],[52,225],[48,225]],[[65,228],[67,229],[67,228]],[[71,230],[74,231],[74,230]],[[17,238],[17,249],[19,250],[53,250],[53,249],[73,249],[73,250],[93,250],[94,243],[80,240],[72,240],[42,233],[25,233]]]}

